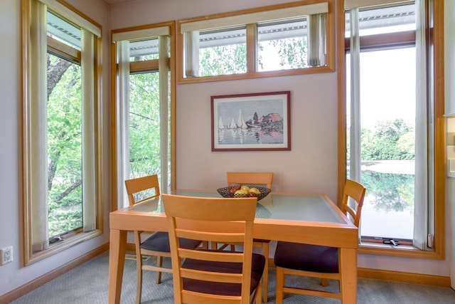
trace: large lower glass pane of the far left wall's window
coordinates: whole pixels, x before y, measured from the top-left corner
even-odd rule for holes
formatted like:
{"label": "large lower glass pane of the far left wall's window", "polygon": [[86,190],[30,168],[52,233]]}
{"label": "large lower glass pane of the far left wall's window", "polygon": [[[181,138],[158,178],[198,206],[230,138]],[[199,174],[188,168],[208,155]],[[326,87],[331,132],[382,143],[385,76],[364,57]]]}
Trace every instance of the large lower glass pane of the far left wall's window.
{"label": "large lower glass pane of the far left wall's window", "polygon": [[81,68],[48,53],[49,237],[82,227]]}

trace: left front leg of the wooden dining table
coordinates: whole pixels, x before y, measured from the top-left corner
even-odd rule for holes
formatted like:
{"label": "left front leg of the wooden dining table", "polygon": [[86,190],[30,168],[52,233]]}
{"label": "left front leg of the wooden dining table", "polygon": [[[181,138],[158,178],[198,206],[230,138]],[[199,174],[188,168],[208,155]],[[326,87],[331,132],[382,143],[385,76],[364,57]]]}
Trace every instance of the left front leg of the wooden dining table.
{"label": "left front leg of the wooden dining table", "polygon": [[127,231],[110,229],[109,243],[109,304],[119,304],[122,294],[123,266]]}

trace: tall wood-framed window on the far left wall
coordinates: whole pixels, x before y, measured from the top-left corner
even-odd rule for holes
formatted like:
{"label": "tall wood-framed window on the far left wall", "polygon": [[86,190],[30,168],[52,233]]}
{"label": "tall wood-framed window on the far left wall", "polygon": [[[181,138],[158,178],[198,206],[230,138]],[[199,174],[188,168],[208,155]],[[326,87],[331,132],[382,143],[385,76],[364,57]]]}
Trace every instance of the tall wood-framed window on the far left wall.
{"label": "tall wood-framed window on the far left wall", "polygon": [[30,28],[23,37],[28,264],[101,233],[95,136],[101,28],[54,0],[22,5]]}

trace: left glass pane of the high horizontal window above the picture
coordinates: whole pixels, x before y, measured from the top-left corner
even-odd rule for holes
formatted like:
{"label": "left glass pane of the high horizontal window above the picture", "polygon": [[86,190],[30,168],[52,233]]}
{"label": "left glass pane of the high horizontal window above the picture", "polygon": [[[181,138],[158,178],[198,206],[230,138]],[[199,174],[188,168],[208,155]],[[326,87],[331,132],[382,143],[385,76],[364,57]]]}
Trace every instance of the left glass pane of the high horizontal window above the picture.
{"label": "left glass pane of the high horizontal window above the picture", "polygon": [[247,30],[223,28],[199,33],[199,75],[215,76],[247,72]]}

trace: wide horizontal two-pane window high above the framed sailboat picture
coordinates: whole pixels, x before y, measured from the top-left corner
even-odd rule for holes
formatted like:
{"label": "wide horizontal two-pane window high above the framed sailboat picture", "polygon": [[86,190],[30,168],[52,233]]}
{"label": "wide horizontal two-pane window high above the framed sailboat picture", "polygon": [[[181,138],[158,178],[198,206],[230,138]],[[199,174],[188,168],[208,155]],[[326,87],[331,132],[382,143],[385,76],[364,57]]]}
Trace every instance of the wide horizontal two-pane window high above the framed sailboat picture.
{"label": "wide horizontal two-pane window high above the framed sailboat picture", "polygon": [[331,0],[300,1],[178,21],[178,80],[332,71],[332,7]]}

